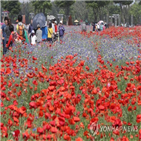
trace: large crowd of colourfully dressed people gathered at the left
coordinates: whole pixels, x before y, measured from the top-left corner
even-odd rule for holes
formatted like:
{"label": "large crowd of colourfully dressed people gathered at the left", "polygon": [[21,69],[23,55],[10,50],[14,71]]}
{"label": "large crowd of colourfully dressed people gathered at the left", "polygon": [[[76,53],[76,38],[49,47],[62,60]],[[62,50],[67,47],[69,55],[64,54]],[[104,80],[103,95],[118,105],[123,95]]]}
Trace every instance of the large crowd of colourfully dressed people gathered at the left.
{"label": "large crowd of colourfully dressed people gathered at the left", "polygon": [[12,47],[14,42],[19,43],[30,43],[31,45],[39,44],[43,41],[50,43],[56,41],[59,37],[62,40],[65,28],[62,21],[57,25],[57,21],[54,19],[45,23],[43,27],[40,24],[37,28],[33,28],[33,21],[29,25],[29,28],[22,22],[22,15],[18,15],[18,23],[16,27],[11,23],[8,17],[4,18],[4,24],[2,25],[2,44],[3,44],[3,55]]}

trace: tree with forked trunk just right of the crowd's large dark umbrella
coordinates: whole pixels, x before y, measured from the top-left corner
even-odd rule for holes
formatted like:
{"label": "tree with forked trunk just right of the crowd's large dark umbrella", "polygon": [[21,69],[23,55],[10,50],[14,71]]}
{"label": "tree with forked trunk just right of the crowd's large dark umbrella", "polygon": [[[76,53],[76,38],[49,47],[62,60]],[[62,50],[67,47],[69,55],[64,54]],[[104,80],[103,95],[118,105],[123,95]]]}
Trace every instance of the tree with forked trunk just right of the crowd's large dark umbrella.
{"label": "tree with forked trunk just right of the crowd's large dark umbrella", "polygon": [[70,7],[75,3],[75,0],[55,0],[55,3],[60,8],[65,9],[66,20],[68,22],[68,16],[70,14]]}

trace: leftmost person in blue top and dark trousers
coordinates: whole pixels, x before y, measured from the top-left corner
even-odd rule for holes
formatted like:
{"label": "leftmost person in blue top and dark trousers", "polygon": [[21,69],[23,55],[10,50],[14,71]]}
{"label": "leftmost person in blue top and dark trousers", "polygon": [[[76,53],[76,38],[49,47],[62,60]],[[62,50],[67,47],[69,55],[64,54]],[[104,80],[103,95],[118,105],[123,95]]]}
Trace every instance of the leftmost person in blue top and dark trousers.
{"label": "leftmost person in blue top and dark trousers", "polygon": [[6,52],[7,52],[7,47],[6,47],[6,33],[5,33],[5,29],[6,29],[6,26],[7,25],[8,25],[8,17],[5,17],[4,18],[4,24],[1,27],[1,29],[2,29],[3,55],[5,55]]}

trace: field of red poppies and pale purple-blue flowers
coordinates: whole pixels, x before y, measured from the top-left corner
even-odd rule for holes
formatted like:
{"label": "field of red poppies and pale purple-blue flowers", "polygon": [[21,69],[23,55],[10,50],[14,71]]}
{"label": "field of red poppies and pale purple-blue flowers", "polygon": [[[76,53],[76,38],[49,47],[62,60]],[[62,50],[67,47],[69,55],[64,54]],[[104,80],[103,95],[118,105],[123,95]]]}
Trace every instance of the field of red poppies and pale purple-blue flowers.
{"label": "field of red poppies and pale purple-blue flowers", "polygon": [[0,141],[140,141],[141,27],[65,28],[1,58]]}

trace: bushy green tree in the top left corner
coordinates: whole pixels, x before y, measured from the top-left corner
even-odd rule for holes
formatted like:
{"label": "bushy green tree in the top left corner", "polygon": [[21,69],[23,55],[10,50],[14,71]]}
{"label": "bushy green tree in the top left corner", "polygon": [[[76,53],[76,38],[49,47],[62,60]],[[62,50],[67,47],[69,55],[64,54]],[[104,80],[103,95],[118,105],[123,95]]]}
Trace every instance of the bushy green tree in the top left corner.
{"label": "bushy green tree in the top left corner", "polygon": [[10,12],[9,15],[11,19],[13,19],[14,15],[19,14],[19,12],[21,11],[19,0],[5,0],[2,3],[2,7],[4,10]]}

